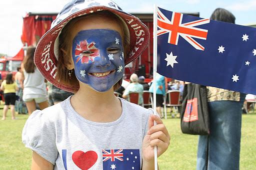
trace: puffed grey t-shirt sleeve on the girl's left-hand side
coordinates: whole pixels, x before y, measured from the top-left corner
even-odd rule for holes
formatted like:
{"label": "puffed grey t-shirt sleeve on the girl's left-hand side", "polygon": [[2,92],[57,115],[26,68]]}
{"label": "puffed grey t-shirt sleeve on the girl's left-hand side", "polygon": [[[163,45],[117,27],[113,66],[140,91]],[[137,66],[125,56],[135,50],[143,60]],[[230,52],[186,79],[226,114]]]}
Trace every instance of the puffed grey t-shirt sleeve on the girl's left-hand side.
{"label": "puffed grey t-shirt sleeve on the girl's left-hand side", "polygon": [[55,144],[54,126],[42,111],[34,111],[22,130],[22,142],[43,159],[55,165],[58,151]]}

